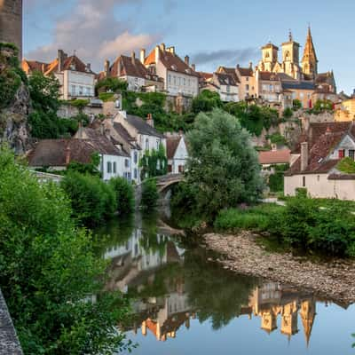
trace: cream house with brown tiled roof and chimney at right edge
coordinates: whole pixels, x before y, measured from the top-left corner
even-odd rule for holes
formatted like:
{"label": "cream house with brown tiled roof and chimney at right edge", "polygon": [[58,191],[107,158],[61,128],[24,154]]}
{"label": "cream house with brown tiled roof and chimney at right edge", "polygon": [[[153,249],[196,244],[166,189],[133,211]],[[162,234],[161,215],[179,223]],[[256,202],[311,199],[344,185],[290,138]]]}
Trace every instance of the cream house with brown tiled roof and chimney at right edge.
{"label": "cream house with brown tiled roof and chimney at right edge", "polygon": [[294,153],[285,173],[285,195],[305,188],[312,197],[355,201],[355,174],[339,168],[343,158],[355,158],[353,122],[311,123]]}

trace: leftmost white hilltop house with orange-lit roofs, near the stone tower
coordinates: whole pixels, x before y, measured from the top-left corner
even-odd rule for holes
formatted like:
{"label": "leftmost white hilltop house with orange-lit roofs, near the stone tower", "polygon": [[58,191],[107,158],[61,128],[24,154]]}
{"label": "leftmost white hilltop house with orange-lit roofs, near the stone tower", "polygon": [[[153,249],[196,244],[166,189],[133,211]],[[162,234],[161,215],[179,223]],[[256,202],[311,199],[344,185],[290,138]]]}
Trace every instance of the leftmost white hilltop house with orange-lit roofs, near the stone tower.
{"label": "leftmost white hilltop house with orange-lit roofs, near the stone tower", "polygon": [[55,75],[60,83],[60,99],[87,99],[95,96],[95,73],[90,63],[84,64],[81,59],[67,56],[58,50],[58,57],[51,63],[42,63],[24,59],[22,68],[28,74],[39,70],[44,75]]}

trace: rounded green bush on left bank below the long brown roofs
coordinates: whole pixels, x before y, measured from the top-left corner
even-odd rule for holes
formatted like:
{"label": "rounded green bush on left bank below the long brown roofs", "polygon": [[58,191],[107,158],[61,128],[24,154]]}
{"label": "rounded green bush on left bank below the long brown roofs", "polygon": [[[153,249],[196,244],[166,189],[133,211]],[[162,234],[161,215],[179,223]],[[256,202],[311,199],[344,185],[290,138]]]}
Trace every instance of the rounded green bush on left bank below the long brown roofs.
{"label": "rounded green bush on left bank below the long brown roofs", "polygon": [[71,201],[73,216],[83,225],[99,225],[114,215],[114,190],[99,177],[73,171],[63,178],[60,185]]}

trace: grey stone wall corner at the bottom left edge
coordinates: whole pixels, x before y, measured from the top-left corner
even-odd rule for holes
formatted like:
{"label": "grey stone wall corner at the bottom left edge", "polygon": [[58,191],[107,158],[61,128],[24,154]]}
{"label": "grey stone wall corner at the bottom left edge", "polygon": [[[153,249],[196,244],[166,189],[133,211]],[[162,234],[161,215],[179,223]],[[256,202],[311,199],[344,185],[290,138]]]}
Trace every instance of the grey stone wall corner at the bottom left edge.
{"label": "grey stone wall corner at the bottom left edge", "polygon": [[0,290],[0,355],[23,355],[12,319]]}

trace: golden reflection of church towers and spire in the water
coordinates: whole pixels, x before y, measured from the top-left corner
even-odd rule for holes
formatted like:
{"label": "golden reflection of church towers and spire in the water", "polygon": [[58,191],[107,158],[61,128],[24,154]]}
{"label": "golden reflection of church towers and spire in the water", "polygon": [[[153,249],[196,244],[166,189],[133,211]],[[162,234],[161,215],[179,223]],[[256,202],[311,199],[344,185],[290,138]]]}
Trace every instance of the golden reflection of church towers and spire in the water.
{"label": "golden reflection of church towers and spire in the water", "polygon": [[268,333],[277,328],[277,318],[281,317],[280,332],[288,335],[298,333],[298,313],[302,319],[306,343],[310,341],[312,326],[316,315],[316,300],[310,294],[295,288],[281,287],[276,282],[265,283],[256,288],[249,298],[244,313],[261,318],[261,327]]}

